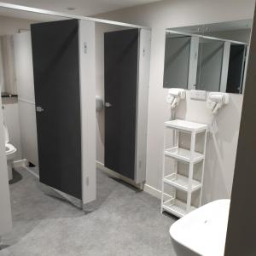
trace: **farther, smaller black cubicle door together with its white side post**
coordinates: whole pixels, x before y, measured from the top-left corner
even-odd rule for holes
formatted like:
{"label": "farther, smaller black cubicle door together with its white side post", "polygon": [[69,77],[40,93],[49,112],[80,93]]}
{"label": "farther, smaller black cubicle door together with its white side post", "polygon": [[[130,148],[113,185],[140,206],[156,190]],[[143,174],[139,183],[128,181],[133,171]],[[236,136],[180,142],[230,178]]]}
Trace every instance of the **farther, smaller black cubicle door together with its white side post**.
{"label": "farther, smaller black cubicle door together with its white side post", "polygon": [[147,30],[104,34],[104,165],[137,184],[146,179],[149,52]]}

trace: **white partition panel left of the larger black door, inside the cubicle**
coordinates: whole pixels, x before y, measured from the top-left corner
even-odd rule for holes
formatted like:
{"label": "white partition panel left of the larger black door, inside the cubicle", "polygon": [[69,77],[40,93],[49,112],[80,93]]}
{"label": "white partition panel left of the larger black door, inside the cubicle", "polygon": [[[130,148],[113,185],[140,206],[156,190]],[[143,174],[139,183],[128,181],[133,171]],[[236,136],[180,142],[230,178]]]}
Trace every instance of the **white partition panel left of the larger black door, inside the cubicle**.
{"label": "white partition panel left of the larger black door, inside the cubicle", "polygon": [[30,32],[15,34],[15,70],[19,95],[22,158],[38,165],[38,137],[35,112],[32,41]]}

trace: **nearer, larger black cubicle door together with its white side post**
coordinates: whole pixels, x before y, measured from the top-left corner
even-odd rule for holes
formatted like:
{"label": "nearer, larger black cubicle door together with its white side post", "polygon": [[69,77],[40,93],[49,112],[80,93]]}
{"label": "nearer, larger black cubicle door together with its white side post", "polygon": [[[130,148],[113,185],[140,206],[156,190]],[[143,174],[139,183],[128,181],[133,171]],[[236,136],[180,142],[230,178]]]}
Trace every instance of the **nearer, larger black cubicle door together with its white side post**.
{"label": "nearer, larger black cubicle door together with its white side post", "polygon": [[96,199],[94,47],[93,21],[32,25],[40,182],[79,207]]}

